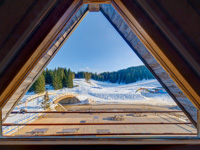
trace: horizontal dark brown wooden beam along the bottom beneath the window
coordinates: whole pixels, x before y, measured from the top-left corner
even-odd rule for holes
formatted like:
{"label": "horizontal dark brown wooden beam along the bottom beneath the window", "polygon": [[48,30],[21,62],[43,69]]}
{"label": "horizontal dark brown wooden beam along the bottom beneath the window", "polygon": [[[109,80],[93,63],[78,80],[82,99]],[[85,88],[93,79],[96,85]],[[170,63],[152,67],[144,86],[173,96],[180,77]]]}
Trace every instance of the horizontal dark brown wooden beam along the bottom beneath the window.
{"label": "horizontal dark brown wooden beam along the bottom beneath the window", "polygon": [[[116,137],[112,138],[113,136],[110,137],[101,137],[98,135],[92,136],[92,137],[80,137],[77,136],[76,138],[72,138],[73,136],[65,137],[4,137],[0,139],[0,146],[2,145],[39,145],[39,149],[41,149],[41,145],[45,145],[43,147],[44,149],[50,145],[50,149],[52,145],[132,145],[130,146],[131,149],[133,149],[133,145],[147,145],[145,149],[149,149],[150,145],[153,145],[157,147],[158,149],[159,145],[163,145],[163,149],[174,149],[175,145],[183,145],[184,150],[191,150],[191,144],[196,145],[199,150],[199,145],[200,145],[200,139],[196,137],[180,137],[180,136],[173,136],[173,137],[161,137],[161,136],[145,136],[144,137]],[[169,147],[167,148],[168,145]],[[170,145],[173,145],[173,148],[170,147]],[[187,147],[189,146],[189,147]],[[30,147],[31,148],[31,147]],[[49,149],[48,148],[48,149]],[[69,147],[66,147],[66,149]],[[101,147],[102,148],[102,147]],[[105,149],[105,147],[103,147]],[[123,149],[124,147],[121,147]],[[128,147],[126,147],[128,148]],[[32,148],[31,148],[32,149]],[[35,148],[34,148],[35,149]],[[55,149],[58,149],[56,147]],[[63,149],[63,147],[61,148]],[[80,147],[79,147],[80,149]],[[96,148],[95,148],[96,149]],[[109,147],[110,149],[110,147]],[[117,148],[118,149],[118,148]],[[90,150],[90,149],[89,149]],[[108,150],[108,149],[106,149]],[[179,149],[181,150],[181,149]],[[192,149],[194,150],[194,149]]]}

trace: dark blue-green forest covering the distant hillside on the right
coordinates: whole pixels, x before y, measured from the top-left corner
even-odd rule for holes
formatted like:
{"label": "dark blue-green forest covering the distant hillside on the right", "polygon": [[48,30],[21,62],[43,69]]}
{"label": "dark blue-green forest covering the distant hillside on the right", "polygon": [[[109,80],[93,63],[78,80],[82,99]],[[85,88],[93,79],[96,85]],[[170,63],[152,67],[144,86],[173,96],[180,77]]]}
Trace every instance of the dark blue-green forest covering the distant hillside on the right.
{"label": "dark blue-green forest covering the distant hillside on the right", "polygon": [[[133,83],[143,79],[155,79],[146,66],[129,67],[115,72],[103,72],[100,74],[92,73],[91,79],[97,81],[108,81],[111,83]],[[75,78],[85,78],[85,72],[81,71],[75,74]]]}

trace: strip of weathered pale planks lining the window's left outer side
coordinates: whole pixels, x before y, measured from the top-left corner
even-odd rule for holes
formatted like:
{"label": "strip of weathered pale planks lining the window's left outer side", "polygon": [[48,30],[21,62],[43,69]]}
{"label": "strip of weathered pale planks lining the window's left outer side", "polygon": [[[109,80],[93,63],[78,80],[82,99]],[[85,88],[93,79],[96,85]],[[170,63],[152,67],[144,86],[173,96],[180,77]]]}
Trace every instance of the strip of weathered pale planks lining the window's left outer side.
{"label": "strip of weathered pale planks lining the window's left outer side", "polygon": [[78,26],[80,21],[84,18],[86,12],[88,11],[88,5],[82,5],[80,9],[73,15],[73,17],[66,23],[66,26],[62,29],[60,34],[56,37],[55,41],[51,44],[47,52],[38,61],[36,66],[27,75],[26,79],[18,87],[16,92],[12,95],[9,101],[5,104],[2,109],[3,120],[8,117],[10,112],[16,107],[21,98],[26,94],[31,85],[35,82],[37,77],[42,73],[43,69],[48,65],[52,58],[56,55],[58,50],[66,42],[68,37],[72,34],[75,28]]}

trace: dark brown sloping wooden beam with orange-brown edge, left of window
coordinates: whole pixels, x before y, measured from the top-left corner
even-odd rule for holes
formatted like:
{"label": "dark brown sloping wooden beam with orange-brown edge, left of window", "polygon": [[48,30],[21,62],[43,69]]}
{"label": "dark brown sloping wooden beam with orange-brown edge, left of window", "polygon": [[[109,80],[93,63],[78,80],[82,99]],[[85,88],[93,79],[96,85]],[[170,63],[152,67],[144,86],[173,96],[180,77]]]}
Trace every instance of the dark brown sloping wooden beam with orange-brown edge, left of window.
{"label": "dark brown sloping wooden beam with orange-brown edge, left of window", "polygon": [[[31,40],[27,39],[12,64],[0,76],[0,108],[2,108],[30,71],[41,60],[65,22],[81,5],[80,0],[58,1],[40,27],[35,30]],[[55,17],[56,15],[56,17]],[[45,16],[43,16],[45,17]]]}

